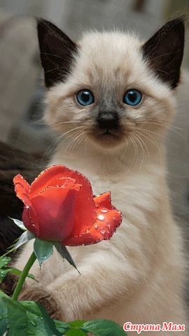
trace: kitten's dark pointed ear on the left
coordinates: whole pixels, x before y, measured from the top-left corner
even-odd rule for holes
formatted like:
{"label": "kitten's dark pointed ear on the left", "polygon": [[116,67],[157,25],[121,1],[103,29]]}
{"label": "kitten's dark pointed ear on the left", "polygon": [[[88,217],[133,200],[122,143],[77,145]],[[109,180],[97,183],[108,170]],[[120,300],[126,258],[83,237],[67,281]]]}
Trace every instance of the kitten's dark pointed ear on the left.
{"label": "kitten's dark pointed ear on the left", "polygon": [[71,68],[73,55],[77,52],[77,45],[46,20],[38,19],[37,29],[45,85],[50,87],[65,80]]}

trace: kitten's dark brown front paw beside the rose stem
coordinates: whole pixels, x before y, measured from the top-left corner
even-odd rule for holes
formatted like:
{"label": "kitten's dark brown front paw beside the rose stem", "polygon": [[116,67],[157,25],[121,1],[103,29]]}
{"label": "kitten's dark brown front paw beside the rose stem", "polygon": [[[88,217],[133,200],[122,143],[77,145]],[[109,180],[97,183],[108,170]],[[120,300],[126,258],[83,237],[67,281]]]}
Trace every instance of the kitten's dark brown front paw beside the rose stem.
{"label": "kitten's dark brown front paw beside the rose stem", "polygon": [[52,318],[55,318],[59,320],[60,317],[60,310],[58,307],[58,304],[55,300],[55,297],[53,297],[52,293],[50,293],[48,290],[45,290],[43,287],[31,287],[26,288],[25,290],[22,290],[20,293],[18,300],[29,300],[38,302],[45,307],[46,311],[48,312],[48,315]]}

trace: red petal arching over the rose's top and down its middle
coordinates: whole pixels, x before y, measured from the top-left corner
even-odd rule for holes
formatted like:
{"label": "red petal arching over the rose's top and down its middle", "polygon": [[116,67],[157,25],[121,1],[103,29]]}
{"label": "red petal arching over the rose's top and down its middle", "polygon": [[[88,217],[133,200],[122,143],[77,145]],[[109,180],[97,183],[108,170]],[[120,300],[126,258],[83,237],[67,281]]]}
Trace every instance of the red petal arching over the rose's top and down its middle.
{"label": "red petal arching over the rose's top and down its middle", "polygon": [[72,235],[77,235],[81,230],[86,230],[89,226],[91,226],[95,217],[97,216],[94,207],[91,184],[83,174],[80,174],[79,172],[62,165],[51,166],[39,174],[34,182],[31,183],[31,189],[29,193],[31,197],[34,197],[34,195],[38,195],[41,190],[44,190],[47,186],[50,186],[52,181],[62,177],[75,179],[76,183],[82,185],[77,197],[75,209],[76,222],[72,232]]}

